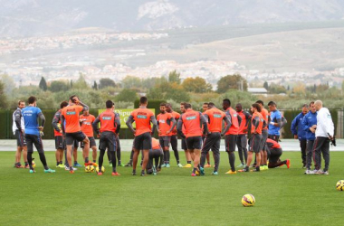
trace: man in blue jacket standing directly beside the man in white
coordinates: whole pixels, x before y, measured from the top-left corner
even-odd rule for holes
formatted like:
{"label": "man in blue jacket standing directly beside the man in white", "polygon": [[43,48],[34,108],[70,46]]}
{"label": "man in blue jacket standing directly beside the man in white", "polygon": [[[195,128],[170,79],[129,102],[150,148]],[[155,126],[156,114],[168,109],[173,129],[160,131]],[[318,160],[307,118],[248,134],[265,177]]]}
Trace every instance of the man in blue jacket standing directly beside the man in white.
{"label": "man in blue jacket standing directly beside the man in white", "polygon": [[314,155],[313,155],[313,145],[315,140],[315,130],[317,125],[317,111],[314,106],[314,101],[311,101],[310,103],[310,111],[307,113],[307,115],[304,116],[302,120],[302,128],[303,131],[306,132],[306,139],[307,139],[307,156],[306,156],[306,168],[305,174],[312,174],[313,171],[311,171],[311,158],[313,156],[313,162],[314,161]]}

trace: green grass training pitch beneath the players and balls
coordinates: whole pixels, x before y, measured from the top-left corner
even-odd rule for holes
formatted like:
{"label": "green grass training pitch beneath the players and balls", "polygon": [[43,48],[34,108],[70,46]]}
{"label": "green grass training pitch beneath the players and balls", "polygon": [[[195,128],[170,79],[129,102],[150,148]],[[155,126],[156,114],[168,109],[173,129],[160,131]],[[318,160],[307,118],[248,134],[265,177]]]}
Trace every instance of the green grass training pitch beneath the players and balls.
{"label": "green grass training pitch beneath the players and balls", "polygon": [[[54,169],[54,152],[45,154]],[[14,152],[0,152],[1,225],[334,225],[343,221],[344,192],[335,185],[344,179],[344,152],[330,153],[330,175],[303,174],[300,152],[283,153],[282,160],[291,159],[291,169],[229,175],[225,174],[228,157],[222,152],[220,174],[211,175],[212,169],[206,168],[205,176],[197,177],[190,176],[190,169],[177,168],[172,152],[171,168],[145,177],[132,176],[128,167],[119,167],[121,176],[111,176],[108,164],[102,176],[86,174],[83,168],[75,174],[60,168],[44,174],[38,154],[33,156],[36,173],[29,174],[13,168]],[[184,153],[180,156],[185,164]],[[122,162],[128,160],[129,152],[122,152]],[[254,195],[253,207],[242,206],[245,193]]]}

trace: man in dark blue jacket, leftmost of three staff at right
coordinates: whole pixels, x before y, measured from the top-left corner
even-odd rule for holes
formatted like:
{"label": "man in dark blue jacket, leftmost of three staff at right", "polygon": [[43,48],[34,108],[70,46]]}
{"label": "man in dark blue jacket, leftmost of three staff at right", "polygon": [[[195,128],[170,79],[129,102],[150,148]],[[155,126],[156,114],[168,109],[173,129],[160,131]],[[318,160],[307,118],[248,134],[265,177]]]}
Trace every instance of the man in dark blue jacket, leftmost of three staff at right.
{"label": "man in dark blue jacket, leftmost of three staff at right", "polygon": [[306,139],[306,132],[303,130],[302,127],[302,119],[308,113],[308,105],[304,104],[302,106],[302,111],[299,115],[297,115],[291,122],[291,133],[294,135],[295,139],[299,139],[300,147],[301,147],[301,159],[302,159],[302,168],[306,168],[306,147],[307,147],[307,139]]}

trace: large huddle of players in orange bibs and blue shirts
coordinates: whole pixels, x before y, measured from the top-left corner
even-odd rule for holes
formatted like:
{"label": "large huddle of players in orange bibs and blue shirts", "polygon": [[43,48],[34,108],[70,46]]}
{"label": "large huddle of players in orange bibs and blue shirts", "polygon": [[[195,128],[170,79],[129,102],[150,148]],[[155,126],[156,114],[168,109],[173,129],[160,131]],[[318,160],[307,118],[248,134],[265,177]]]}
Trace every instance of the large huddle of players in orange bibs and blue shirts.
{"label": "large huddle of players in orange bibs and blue shirts", "polygon": [[[44,172],[54,173],[55,171],[46,164],[43,151],[42,135],[45,118],[42,110],[36,107],[34,97],[30,97],[28,103],[29,106],[25,108],[24,101],[19,101],[18,108],[14,111],[13,129],[18,143],[14,166],[29,168],[30,173],[35,172],[32,157],[34,145],[44,166]],[[115,105],[111,100],[106,101],[105,106],[106,110],[95,118],[89,113],[89,107],[77,96],[72,96],[68,102],[61,103],[61,108],[55,113],[52,122],[56,146],[56,167],[64,167],[73,174],[77,169],[75,167],[81,166],[77,162],[77,148],[81,142],[85,166],[98,166],[98,174],[103,174],[103,158],[108,151],[112,175],[119,175],[116,166],[124,166],[120,162],[119,114],[115,113]],[[223,110],[216,108],[212,102],[204,103],[203,112],[196,111],[191,104],[183,102],[180,104],[181,114],[174,111],[171,104],[161,103],[157,118],[147,106],[148,99],[141,97],[139,108],[131,112],[126,121],[127,126],[135,135],[132,154],[127,164],[127,166],[132,166],[133,175],[137,174],[140,152],[142,153],[141,175],[157,174],[162,167],[170,167],[169,146],[174,151],[177,166],[192,168],[192,176],[204,175],[204,168],[211,167],[209,157],[211,150],[214,157],[212,174],[217,175],[221,137],[225,137],[225,152],[228,154],[230,165],[230,170],[225,174],[237,173],[234,165],[236,146],[241,162],[237,167],[243,168],[239,172],[250,172],[249,166],[253,162],[253,153],[255,156],[253,170],[251,170],[253,172],[282,165],[290,167],[289,160],[280,160],[282,148],[278,142],[280,129],[285,125],[286,120],[273,101],[268,103],[270,113],[263,108],[262,100],[253,103],[250,113],[244,111],[240,103],[235,105],[235,109],[232,108],[230,99],[223,100]],[[40,124],[38,118],[40,118]],[[132,126],[134,122],[135,128]],[[248,135],[249,130],[251,130],[251,135]],[[158,133],[158,140],[152,137],[155,131]],[[98,164],[96,163],[97,146],[93,137],[94,133],[100,138]],[[177,134],[182,138],[181,147],[186,155],[184,166],[180,164],[177,151]],[[250,137],[249,140],[248,137]],[[247,148],[248,144],[249,148]],[[92,161],[89,160],[90,149]],[[22,150],[25,166],[20,164]],[[62,164],[63,155],[64,165]]]}

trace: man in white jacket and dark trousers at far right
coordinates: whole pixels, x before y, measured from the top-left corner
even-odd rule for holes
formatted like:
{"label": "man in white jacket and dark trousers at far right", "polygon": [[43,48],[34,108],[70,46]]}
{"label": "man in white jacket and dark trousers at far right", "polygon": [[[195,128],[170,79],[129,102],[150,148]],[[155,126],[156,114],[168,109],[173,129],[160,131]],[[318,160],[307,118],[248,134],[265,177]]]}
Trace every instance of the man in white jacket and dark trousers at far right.
{"label": "man in white jacket and dark trousers at far right", "polygon": [[[321,100],[314,103],[317,115],[317,127],[315,131],[315,142],[313,152],[315,152],[316,169],[314,174],[329,174],[330,164],[330,140],[333,139],[334,125],[328,108],[322,107]],[[325,160],[325,168],[321,170],[321,153]]]}

